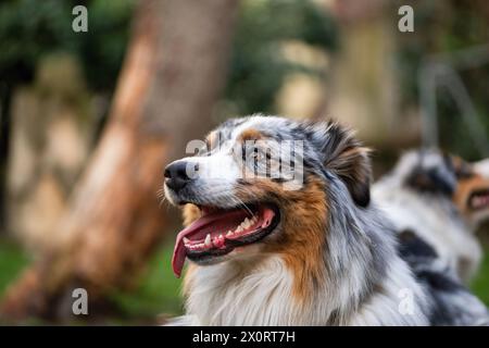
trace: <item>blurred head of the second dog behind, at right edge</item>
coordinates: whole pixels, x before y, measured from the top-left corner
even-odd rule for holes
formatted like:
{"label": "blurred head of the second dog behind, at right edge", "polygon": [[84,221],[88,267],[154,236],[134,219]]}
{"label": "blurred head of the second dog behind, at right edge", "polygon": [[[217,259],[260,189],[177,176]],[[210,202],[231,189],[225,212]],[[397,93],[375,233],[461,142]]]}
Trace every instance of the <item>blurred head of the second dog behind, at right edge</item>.
{"label": "blurred head of the second dog behind, at right edge", "polygon": [[422,195],[451,200],[474,227],[489,219],[489,164],[467,163],[435,150],[413,151],[398,165],[404,184]]}

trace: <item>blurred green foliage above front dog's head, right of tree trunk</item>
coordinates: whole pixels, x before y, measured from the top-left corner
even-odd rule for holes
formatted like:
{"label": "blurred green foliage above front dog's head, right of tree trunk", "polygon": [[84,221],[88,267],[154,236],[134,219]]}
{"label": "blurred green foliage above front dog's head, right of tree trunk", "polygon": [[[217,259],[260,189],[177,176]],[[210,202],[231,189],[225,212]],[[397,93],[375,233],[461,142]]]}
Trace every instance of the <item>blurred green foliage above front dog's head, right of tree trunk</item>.
{"label": "blurred green foliage above front dog's head, right of tree trunk", "polygon": [[226,88],[233,113],[274,113],[274,96],[288,73],[324,74],[286,62],[280,44],[287,40],[334,50],[338,45],[338,29],[325,9],[310,0],[241,3]]}

